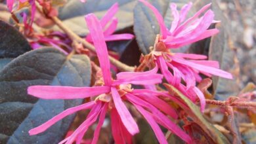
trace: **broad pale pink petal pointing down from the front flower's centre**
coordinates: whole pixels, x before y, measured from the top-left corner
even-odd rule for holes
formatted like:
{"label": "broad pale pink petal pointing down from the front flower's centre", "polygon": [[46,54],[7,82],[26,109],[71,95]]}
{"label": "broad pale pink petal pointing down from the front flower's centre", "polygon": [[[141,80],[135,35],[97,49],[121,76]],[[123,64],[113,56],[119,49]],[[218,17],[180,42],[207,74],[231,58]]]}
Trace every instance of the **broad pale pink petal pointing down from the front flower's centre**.
{"label": "broad pale pink petal pointing down from the front flower's centre", "polygon": [[121,118],[121,121],[123,122],[123,125],[125,126],[125,128],[127,128],[128,132],[131,135],[137,134],[139,132],[139,128],[138,128],[135,120],[131,116],[131,113],[129,113],[127,107],[121,100],[116,88],[112,87],[111,92],[112,92],[112,98],[114,100],[114,104],[115,104],[117,112]]}

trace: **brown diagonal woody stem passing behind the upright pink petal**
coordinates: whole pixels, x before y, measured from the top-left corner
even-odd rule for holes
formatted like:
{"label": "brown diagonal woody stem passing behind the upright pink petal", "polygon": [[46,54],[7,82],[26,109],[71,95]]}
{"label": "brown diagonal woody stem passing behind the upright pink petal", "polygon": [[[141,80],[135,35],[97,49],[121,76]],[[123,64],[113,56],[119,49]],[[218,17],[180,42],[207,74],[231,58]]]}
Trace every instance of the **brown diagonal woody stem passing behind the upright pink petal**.
{"label": "brown diagonal woody stem passing behind the upright pink petal", "polygon": [[[37,9],[40,9],[39,5],[37,5]],[[83,38],[79,37],[77,34],[75,34],[71,29],[69,29],[67,26],[65,26],[63,24],[63,22],[58,17],[53,16],[53,17],[51,17],[51,19],[58,27],[60,27],[60,29],[62,29],[62,31],[64,31],[68,35],[68,37],[70,37],[70,39],[72,39],[72,41],[77,41],[77,43],[81,43],[83,46],[85,46],[92,52],[96,52],[95,46],[91,45],[91,43],[85,41],[85,39],[83,39]],[[125,63],[119,62],[112,56],[108,56],[108,58],[110,59],[110,62],[113,65],[115,65],[120,71],[134,71],[135,70],[135,67],[131,67],[129,65],[126,65]]]}

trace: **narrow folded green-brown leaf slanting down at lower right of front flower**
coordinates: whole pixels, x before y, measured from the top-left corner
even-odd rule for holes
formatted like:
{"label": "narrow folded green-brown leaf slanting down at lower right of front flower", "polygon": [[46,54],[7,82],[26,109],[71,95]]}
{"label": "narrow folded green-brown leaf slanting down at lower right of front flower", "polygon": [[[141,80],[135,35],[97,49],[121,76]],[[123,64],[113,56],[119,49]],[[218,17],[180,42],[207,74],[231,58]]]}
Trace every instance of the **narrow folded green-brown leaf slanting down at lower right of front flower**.
{"label": "narrow folded green-brown leaf slanting down at lower right of front flower", "polygon": [[203,118],[203,115],[197,105],[192,103],[190,99],[186,98],[186,96],[179,92],[179,90],[177,90],[177,88],[175,88],[174,86],[171,86],[170,84],[164,84],[164,86],[167,88],[170,94],[174,94],[174,96],[179,97],[182,101],[184,101],[184,103],[186,103],[188,107],[182,107],[182,109],[184,109],[184,111],[188,113],[188,115],[194,120],[194,122],[196,122],[202,128],[202,130],[207,135],[209,135],[209,137],[211,137],[213,141],[215,141],[215,143],[230,143],[228,139],[226,139],[226,137],[213,126],[213,124],[207,122],[207,120]]}

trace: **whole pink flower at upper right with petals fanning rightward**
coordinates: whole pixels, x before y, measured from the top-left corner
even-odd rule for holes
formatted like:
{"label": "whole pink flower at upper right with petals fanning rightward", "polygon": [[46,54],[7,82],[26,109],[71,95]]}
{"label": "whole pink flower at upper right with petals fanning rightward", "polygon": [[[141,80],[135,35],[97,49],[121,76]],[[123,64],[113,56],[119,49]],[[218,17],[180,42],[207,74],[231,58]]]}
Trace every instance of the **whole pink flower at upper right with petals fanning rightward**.
{"label": "whole pink flower at upper right with petals fanning rightward", "polygon": [[[213,19],[213,11],[207,10],[211,4],[205,5],[194,16],[186,20],[186,15],[192,7],[192,3],[184,5],[180,13],[177,10],[177,5],[171,3],[170,7],[174,19],[171,29],[167,29],[160,12],[147,1],[139,1],[154,12],[160,25],[160,35],[156,39],[154,50],[148,56],[145,56],[146,63],[151,60],[152,63],[158,65],[167,82],[181,90],[192,101],[196,101],[198,96],[201,103],[201,111],[203,111],[205,98],[196,87],[196,82],[202,81],[202,77],[199,74],[202,73],[207,77],[216,75],[226,79],[232,79],[232,75],[219,69],[219,62],[206,60],[207,56],[172,53],[170,49],[200,41],[219,32],[218,29],[208,29],[211,24],[217,22]],[[205,10],[207,11],[205,12]],[[199,17],[202,12],[205,12],[205,14]],[[169,69],[172,69],[173,72],[171,73]],[[182,80],[185,85],[182,84]]]}

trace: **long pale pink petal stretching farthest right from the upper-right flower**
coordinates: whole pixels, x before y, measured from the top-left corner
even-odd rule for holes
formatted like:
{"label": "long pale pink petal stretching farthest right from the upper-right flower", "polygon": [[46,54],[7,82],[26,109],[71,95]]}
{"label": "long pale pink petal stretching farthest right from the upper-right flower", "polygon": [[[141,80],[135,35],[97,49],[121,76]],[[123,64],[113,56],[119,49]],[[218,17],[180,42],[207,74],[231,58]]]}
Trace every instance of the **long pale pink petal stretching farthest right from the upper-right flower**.
{"label": "long pale pink petal stretching farthest right from the upper-right flower", "polygon": [[198,69],[199,71],[202,71],[204,73],[210,73],[212,75],[217,75],[219,77],[224,77],[226,79],[232,79],[232,75],[230,73],[223,71],[221,69],[216,69],[214,67],[209,67],[209,66],[189,62],[188,60],[182,60],[181,58],[175,58],[174,56],[171,56],[171,59],[177,63],[181,63],[183,65],[187,65],[188,67]]}

